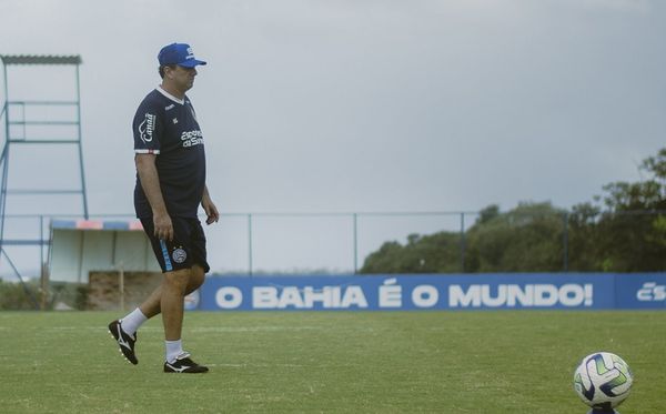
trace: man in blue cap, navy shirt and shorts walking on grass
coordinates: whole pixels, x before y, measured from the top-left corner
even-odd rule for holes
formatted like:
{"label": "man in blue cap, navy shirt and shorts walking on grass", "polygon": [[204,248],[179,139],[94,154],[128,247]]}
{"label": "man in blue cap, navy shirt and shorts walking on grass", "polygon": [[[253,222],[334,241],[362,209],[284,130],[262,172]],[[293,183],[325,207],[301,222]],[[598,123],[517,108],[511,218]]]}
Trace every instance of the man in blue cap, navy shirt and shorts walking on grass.
{"label": "man in blue cap, navy shirt and shorts walking on grass", "polygon": [[164,372],[204,373],[183,350],[183,299],[195,291],[210,270],[205,235],[196,216],[203,208],[206,224],[220,218],[205,185],[203,134],[185,95],[194,84],[192,48],[172,43],[158,55],[162,83],[139,105],[133,121],[137,185],[134,209],[162,267],[162,284],[133,312],[109,324],[122,354],[138,364],[137,331],[162,313],[165,339]]}

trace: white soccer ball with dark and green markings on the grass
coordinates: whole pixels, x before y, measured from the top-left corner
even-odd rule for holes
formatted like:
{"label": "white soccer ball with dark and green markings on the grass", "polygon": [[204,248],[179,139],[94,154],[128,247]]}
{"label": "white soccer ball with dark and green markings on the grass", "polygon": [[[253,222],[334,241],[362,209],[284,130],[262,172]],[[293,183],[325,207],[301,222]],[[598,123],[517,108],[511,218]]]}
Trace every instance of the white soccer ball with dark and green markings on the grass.
{"label": "white soccer ball with dark and green markings on the grass", "polygon": [[634,377],[629,365],[609,352],[587,355],[574,373],[574,390],[594,410],[612,412],[629,396]]}

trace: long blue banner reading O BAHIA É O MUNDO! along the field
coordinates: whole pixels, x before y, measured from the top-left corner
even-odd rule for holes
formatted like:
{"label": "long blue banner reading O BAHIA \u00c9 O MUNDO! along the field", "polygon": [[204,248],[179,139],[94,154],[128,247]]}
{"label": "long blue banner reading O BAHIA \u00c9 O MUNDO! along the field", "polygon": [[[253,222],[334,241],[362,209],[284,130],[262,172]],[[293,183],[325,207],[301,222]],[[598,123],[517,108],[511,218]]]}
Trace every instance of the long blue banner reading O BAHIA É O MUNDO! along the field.
{"label": "long blue banner reading O BAHIA \u00c9 O MUNDO! along the field", "polygon": [[204,311],[666,309],[666,273],[211,276]]}

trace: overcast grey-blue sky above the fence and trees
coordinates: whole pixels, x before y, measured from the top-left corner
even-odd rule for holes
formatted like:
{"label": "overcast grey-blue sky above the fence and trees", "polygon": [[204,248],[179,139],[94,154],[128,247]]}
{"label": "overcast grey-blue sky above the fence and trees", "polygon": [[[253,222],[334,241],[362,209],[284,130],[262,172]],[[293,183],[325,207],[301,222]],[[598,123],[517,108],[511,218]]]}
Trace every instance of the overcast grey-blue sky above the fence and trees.
{"label": "overcast grey-blue sky above the fence and trees", "polygon": [[[658,0],[0,0],[0,54],[81,54],[93,214],[133,212],[131,121],[174,41],[209,62],[189,97],[222,212],[568,209],[666,147],[665,22]],[[17,99],[67,89],[20,71]]]}

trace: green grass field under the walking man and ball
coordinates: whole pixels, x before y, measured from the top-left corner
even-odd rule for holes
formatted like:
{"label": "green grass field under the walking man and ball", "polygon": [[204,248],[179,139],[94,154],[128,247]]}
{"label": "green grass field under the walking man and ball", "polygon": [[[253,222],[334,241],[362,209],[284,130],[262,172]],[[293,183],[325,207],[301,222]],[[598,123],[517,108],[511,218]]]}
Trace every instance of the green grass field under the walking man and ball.
{"label": "green grass field under the walking man and ball", "polygon": [[586,413],[572,377],[595,351],[634,371],[623,414],[665,410],[666,312],[191,312],[203,375],[162,373],[159,317],[130,365],[118,315],[0,313],[0,412]]}

